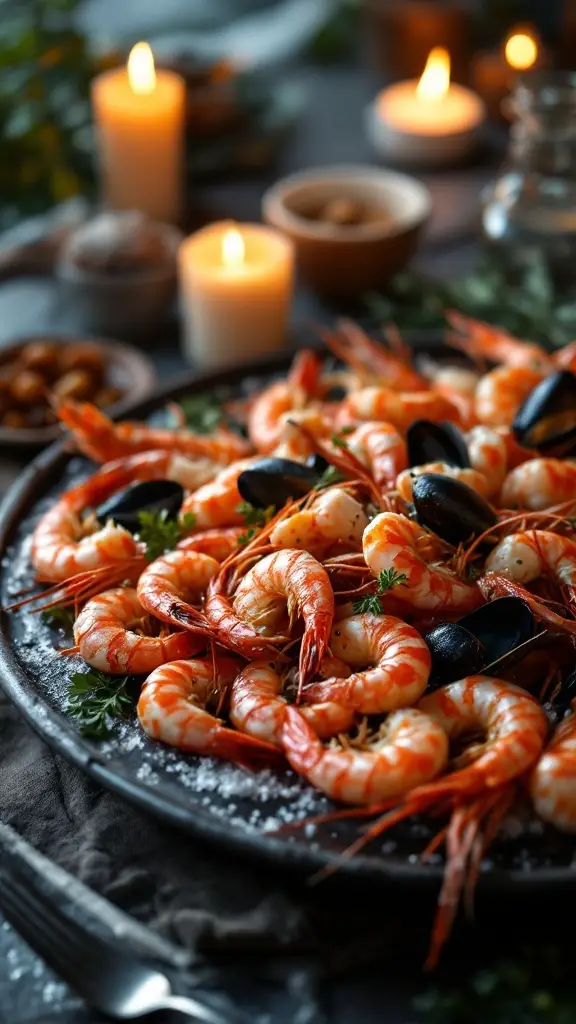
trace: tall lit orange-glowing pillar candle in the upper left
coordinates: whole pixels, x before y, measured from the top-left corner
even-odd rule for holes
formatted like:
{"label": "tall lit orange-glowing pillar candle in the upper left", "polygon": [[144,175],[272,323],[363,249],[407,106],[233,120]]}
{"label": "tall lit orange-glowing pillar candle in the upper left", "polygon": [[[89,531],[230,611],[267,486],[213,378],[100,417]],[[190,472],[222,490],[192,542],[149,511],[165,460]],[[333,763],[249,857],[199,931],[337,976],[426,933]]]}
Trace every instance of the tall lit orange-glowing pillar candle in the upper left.
{"label": "tall lit orange-glowing pillar candle in the upper left", "polygon": [[102,198],[114,210],[140,210],[176,223],[182,212],[186,87],[154,67],[137,43],[127,68],[92,82]]}

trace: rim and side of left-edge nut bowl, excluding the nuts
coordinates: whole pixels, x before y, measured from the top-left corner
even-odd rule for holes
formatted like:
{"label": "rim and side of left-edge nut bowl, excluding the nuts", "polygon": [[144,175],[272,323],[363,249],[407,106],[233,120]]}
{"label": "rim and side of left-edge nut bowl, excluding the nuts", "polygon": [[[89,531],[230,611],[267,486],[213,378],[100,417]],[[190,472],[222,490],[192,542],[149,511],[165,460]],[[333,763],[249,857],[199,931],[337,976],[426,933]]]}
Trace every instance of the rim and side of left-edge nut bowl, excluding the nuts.
{"label": "rim and side of left-edge nut bowl, excluding the nuts", "polygon": [[[11,345],[0,348],[0,367],[17,355],[24,345],[34,341],[49,341],[58,345],[89,343],[100,349],[106,359],[107,383],[122,391],[122,397],[113,406],[102,410],[106,415],[118,418],[137,399],[148,397],[157,384],[156,370],[151,360],[136,348],[121,341],[100,338],[78,337],[75,335],[42,334],[19,338]],[[2,447],[40,449],[61,437],[63,427],[55,423],[49,427],[3,427],[0,426],[0,451]]]}

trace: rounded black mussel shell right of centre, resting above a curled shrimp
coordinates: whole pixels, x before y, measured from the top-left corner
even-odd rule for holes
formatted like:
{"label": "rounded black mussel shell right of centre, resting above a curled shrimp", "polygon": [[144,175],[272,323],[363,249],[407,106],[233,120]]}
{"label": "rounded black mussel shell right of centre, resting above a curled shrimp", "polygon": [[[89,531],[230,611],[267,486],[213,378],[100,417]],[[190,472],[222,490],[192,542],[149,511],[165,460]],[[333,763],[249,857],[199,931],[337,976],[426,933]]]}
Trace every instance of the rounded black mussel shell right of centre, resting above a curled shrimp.
{"label": "rounded black mussel shell right of centre, resting above a curled shrimp", "polygon": [[451,476],[423,473],[412,483],[416,518],[449,544],[479,537],[495,525],[496,513],[480,495]]}

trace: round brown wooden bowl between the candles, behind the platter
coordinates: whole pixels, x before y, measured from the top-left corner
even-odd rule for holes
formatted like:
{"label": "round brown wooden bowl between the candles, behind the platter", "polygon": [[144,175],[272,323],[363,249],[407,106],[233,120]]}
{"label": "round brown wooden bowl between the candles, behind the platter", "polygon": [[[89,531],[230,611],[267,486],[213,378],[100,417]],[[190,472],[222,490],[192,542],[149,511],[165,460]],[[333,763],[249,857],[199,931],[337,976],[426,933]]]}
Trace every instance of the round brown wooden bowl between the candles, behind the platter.
{"label": "round brown wooden bowl between the candles, behind the platter", "polygon": [[[315,216],[334,200],[360,204],[365,222]],[[262,200],[262,217],[294,244],[302,276],[330,298],[383,288],[413,256],[431,198],[419,181],[377,167],[330,167],[283,178]]]}

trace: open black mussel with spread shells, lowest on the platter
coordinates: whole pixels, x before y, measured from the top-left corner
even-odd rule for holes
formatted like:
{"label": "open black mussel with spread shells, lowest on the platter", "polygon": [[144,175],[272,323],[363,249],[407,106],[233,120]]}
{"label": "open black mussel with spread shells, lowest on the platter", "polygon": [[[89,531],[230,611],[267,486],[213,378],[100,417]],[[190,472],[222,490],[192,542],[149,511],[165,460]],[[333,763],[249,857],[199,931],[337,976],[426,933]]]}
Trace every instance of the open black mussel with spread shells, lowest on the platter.
{"label": "open black mussel with spread shells, lowest on the platter", "polygon": [[457,623],[439,623],[424,636],[433,659],[428,689],[485,670],[497,675],[528,652],[533,632],[532,612],[519,597],[500,597]]}

